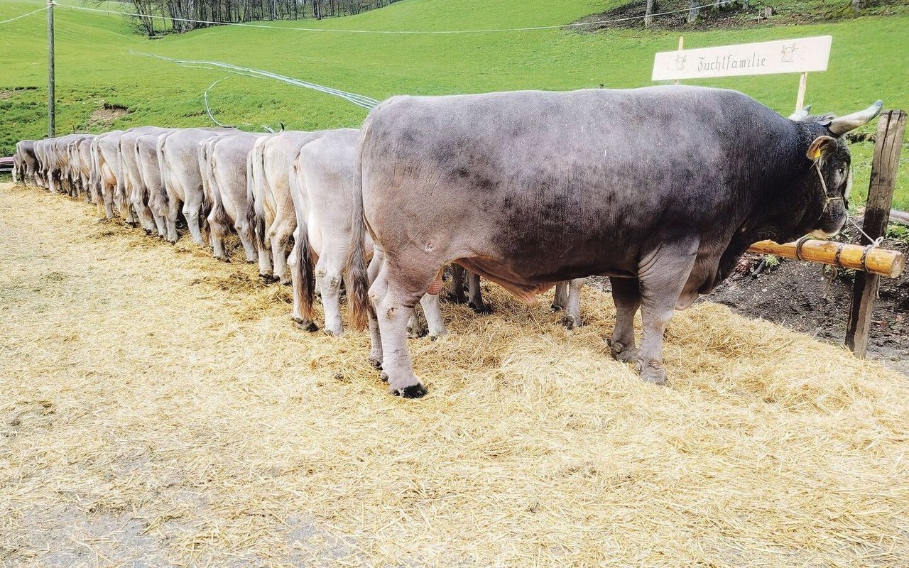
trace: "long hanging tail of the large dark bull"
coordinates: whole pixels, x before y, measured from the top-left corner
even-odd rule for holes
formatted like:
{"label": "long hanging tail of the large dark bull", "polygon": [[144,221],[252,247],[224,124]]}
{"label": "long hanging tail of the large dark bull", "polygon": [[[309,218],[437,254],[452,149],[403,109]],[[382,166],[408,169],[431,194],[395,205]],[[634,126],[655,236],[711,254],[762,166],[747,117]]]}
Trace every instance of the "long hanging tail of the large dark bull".
{"label": "long hanging tail of the large dark bull", "polygon": [[354,184],[354,207],[351,219],[350,244],[345,259],[345,285],[347,286],[347,312],[350,324],[355,330],[365,329],[369,310],[369,274],[366,270],[365,238],[366,220],[363,211],[363,146],[369,133],[370,120],[367,117],[357,144],[356,180]]}

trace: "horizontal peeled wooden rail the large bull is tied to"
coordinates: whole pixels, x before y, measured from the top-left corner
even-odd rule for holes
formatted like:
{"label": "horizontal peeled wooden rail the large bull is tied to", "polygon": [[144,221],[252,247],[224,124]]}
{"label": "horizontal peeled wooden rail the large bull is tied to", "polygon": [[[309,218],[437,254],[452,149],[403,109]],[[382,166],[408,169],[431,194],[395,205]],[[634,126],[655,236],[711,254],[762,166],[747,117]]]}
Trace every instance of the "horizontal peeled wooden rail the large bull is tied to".
{"label": "horizontal peeled wooden rail the large bull is tied to", "polygon": [[[896,278],[903,274],[906,259],[899,251],[873,248],[868,251],[862,263],[865,247],[861,244],[834,243],[833,241],[807,240],[802,245],[802,258],[812,263],[824,263],[842,268],[852,268],[871,274]],[[752,253],[775,254],[784,258],[798,258],[795,243],[777,244],[773,241],[754,243],[748,249]],[[837,252],[839,258],[837,259]],[[867,270],[865,270],[867,268]]]}

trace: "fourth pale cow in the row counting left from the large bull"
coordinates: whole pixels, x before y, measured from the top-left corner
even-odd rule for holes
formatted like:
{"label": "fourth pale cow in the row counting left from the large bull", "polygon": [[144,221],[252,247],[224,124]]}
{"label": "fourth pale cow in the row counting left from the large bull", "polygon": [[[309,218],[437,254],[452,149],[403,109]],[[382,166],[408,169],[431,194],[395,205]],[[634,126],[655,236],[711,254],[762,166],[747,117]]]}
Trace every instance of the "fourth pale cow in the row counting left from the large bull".
{"label": "fourth pale cow in the row counting left from the large bull", "polygon": [[159,203],[166,204],[162,214],[165,215],[168,241],[176,242],[176,220],[182,209],[189,234],[196,244],[205,244],[200,226],[205,194],[199,169],[199,142],[218,133],[230,132],[235,131],[227,128],[177,128],[159,136],[158,165],[165,190],[165,196],[159,199]]}

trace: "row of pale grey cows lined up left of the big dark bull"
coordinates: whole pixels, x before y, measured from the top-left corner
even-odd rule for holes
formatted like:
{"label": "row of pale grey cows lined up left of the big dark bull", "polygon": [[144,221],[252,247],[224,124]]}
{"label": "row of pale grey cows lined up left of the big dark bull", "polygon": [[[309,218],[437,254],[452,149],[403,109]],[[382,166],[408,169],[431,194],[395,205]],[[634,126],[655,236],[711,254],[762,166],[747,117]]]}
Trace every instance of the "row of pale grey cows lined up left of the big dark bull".
{"label": "row of pale grey cows lined up left of the big dark bull", "polygon": [[[225,128],[140,126],[16,144],[14,176],[96,204],[170,243],[185,219],[196,244],[228,261],[225,238],[239,236],[246,261],[266,280],[292,284],[296,325],[316,331],[321,295],[325,331],[343,333],[339,296],[350,244],[359,131],[252,134]],[[293,246],[291,246],[293,244]],[[367,256],[373,244],[365,235]],[[479,277],[453,267],[455,299],[486,311]],[[464,295],[467,276],[470,297]],[[568,304],[567,283],[555,304]],[[428,333],[445,334],[437,294],[422,302]],[[555,305],[554,304],[554,305]],[[578,317],[566,319],[577,321]],[[569,324],[570,325],[570,324]],[[410,335],[426,330],[412,315]]]}

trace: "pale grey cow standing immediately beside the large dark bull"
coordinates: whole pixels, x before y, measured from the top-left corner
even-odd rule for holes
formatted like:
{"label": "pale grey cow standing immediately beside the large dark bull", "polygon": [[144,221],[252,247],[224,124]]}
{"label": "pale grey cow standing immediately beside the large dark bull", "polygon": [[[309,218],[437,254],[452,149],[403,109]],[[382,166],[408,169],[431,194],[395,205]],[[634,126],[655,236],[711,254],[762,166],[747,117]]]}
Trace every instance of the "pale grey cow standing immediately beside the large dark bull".
{"label": "pale grey cow standing immediately beside the large dark bull", "polygon": [[[294,286],[294,320],[309,331],[317,329],[312,317],[313,296],[318,287],[325,331],[335,336],[344,333],[339,300],[354,229],[359,137],[358,130],[349,128],[312,133],[311,141],[294,158],[289,178],[296,218],[294,248],[288,259]],[[363,246],[366,255],[371,255],[372,240],[366,237]],[[445,334],[438,294],[424,294],[420,304],[429,335]],[[411,336],[421,334],[415,314],[411,314],[408,326]],[[375,326],[370,331],[378,334]],[[381,362],[381,353],[375,356]]]}

